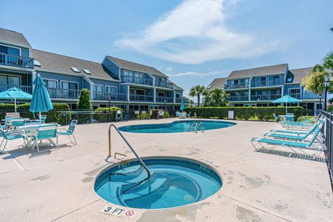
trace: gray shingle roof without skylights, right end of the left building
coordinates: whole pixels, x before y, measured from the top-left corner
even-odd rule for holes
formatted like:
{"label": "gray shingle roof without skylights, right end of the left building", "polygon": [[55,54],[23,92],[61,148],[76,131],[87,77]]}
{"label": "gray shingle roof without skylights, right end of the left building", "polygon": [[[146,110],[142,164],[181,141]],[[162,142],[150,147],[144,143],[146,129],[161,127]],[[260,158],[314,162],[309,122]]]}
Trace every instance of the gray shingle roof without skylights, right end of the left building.
{"label": "gray shingle roof without skylights, right end of the left building", "polygon": [[112,56],[107,56],[107,57],[110,58],[110,60],[115,62],[119,67],[121,67],[123,69],[129,69],[132,71],[140,71],[143,73],[152,74],[154,76],[161,76],[161,77],[168,78],[168,76],[166,76],[165,74],[162,74],[161,71],[158,71],[154,67],[148,67],[147,65],[142,65],[142,64],[130,62],[127,60],[121,60],[120,58],[114,58]]}

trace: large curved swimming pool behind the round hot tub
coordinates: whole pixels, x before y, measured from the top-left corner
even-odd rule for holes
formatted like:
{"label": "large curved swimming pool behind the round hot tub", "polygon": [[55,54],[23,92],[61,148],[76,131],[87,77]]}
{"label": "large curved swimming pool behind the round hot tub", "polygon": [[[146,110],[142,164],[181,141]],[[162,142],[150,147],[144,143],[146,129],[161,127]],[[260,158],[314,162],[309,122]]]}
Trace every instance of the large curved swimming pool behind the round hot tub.
{"label": "large curved swimming pool behind the round hot tub", "polygon": [[171,123],[121,126],[119,130],[130,133],[182,133],[188,132],[191,124],[196,122],[203,123],[203,125],[199,126],[198,130],[202,130],[202,126],[204,126],[205,130],[214,130],[234,126],[236,124],[216,120],[179,120]]}

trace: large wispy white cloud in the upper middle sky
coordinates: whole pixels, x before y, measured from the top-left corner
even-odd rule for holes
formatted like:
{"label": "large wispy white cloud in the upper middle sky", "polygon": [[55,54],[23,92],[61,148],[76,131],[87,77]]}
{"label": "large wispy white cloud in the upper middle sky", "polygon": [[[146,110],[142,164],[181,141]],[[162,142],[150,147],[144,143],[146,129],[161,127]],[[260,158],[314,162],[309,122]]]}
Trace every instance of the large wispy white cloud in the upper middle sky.
{"label": "large wispy white cloud in the upper middle sky", "polygon": [[247,58],[283,49],[280,41],[264,42],[254,35],[230,31],[227,8],[235,0],[186,0],[140,33],[115,42],[155,58],[185,64]]}

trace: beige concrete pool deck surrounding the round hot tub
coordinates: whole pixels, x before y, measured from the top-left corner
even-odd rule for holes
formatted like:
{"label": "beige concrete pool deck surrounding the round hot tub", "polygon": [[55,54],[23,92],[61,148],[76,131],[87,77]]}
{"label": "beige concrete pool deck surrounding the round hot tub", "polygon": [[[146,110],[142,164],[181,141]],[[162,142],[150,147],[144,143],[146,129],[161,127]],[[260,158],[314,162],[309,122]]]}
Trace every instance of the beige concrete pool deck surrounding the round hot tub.
{"label": "beige concrete pool deck surrounding the round hot tub", "polygon": [[[212,166],[223,180],[210,198],[167,210],[135,209],[134,219],[99,212],[109,205],[94,192],[97,174],[110,166],[105,162],[108,123],[78,125],[78,145],[61,137],[60,150],[39,155],[18,149],[22,141],[11,141],[10,154],[0,155],[0,221],[333,221],[326,164],[255,152],[250,138],[280,125],[234,122],[230,128],[198,134],[123,133],[142,157],[191,158]],[[112,155],[117,151],[134,157],[119,136],[112,135]]]}

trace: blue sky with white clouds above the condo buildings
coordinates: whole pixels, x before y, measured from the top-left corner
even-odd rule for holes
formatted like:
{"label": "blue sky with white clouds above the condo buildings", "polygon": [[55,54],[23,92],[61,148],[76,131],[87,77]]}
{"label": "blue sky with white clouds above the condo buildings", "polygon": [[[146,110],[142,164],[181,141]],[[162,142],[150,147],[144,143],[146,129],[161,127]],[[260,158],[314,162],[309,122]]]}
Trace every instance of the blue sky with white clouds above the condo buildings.
{"label": "blue sky with white clouds above the condo buildings", "polygon": [[0,27],[24,33],[35,49],[151,65],[185,94],[235,69],[311,67],[333,49],[332,0],[0,0],[0,5]]}

